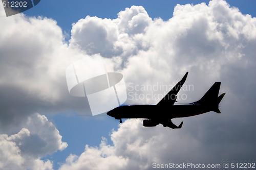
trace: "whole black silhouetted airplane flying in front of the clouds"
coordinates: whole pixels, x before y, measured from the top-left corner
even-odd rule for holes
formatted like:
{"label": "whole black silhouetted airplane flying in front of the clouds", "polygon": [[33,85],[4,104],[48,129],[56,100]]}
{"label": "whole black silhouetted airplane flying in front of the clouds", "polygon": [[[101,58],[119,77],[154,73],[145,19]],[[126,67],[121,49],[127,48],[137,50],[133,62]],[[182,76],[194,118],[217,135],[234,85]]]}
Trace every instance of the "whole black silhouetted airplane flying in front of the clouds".
{"label": "whole black silhouetted airplane flying in front of the clouds", "polygon": [[181,122],[179,126],[176,126],[173,124],[171,120],[172,118],[195,116],[209,111],[221,113],[219,110],[219,103],[225,95],[225,93],[223,93],[218,96],[221,82],[216,82],[212,85],[204,96],[197,102],[174,104],[177,102],[176,95],[184,84],[187,74],[188,72],[186,72],[181,81],[178,82],[156,105],[119,106],[106,114],[114,117],[115,119],[120,119],[120,123],[122,123],[122,118],[146,118],[143,120],[144,127],[154,127],[162,124],[163,127],[180,129],[183,122]]}

